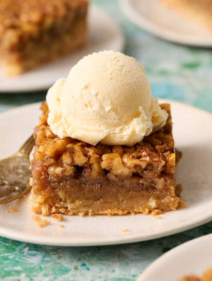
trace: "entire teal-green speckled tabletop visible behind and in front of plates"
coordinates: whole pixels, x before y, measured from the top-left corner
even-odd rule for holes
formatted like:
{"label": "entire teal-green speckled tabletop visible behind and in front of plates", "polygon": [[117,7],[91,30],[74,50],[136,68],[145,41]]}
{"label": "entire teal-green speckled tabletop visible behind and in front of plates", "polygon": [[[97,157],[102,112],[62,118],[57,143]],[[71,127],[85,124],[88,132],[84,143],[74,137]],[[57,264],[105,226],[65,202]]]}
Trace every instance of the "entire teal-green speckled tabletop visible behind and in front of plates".
{"label": "entire teal-green speckled tabletop visible behind and in front of plates", "polygon": [[[144,66],[154,96],[212,112],[210,49],[185,47],[153,37],[130,23],[117,1],[94,2],[119,22],[126,37],[124,52]],[[44,100],[45,95],[44,92],[0,94],[0,112]],[[0,280],[135,280],[161,254],[209,233],[212,233],[212,222],[147,242],[78,248],[41,246],[0,238]]]}

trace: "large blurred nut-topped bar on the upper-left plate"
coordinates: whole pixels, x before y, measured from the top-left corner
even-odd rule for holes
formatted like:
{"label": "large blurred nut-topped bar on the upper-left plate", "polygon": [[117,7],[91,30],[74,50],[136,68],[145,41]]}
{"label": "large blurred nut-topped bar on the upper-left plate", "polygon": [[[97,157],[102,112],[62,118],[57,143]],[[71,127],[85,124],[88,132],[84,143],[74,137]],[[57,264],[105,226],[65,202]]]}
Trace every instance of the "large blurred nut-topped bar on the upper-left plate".
{"label": "large blurred nut-topped bar on the upper-left plate", "polygon": [[2,0],[2,71],[20,74],[84,45],[87,6],[87,0]]}

